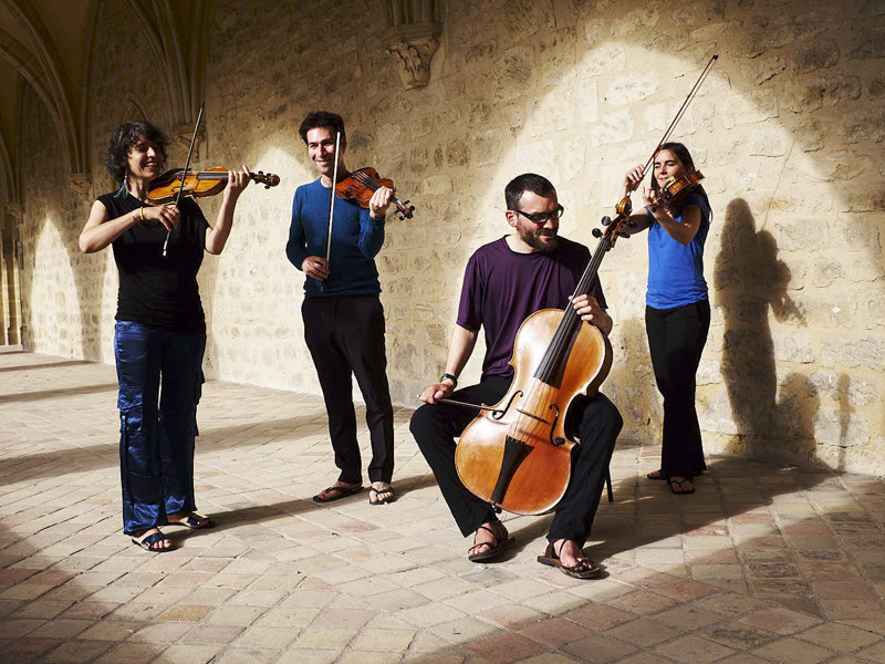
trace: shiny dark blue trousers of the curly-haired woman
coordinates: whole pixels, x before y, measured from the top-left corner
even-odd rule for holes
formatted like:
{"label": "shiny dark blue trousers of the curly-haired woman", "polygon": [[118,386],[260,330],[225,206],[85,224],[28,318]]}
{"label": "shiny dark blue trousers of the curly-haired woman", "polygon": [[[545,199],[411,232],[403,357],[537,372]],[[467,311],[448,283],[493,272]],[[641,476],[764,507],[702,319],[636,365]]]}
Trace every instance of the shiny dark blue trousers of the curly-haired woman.
{"label": "shiny dark blue trousers of the curly-haired woman", "polygon": [[127,535],[165,525],[166,515],[196,510],[194,439],[205,349],[205,332],[116,323],[123,531]]}

